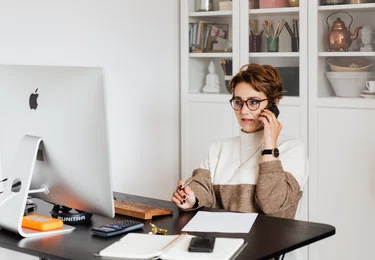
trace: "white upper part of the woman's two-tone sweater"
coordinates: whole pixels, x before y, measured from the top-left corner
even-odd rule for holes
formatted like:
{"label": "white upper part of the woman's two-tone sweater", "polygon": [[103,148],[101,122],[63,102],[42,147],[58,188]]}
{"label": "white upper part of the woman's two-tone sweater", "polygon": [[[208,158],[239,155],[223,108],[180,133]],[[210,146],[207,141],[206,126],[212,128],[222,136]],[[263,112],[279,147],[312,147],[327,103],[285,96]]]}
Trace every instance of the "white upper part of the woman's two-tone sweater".
{"label": "white upper part of the woman's two-tone sweater", "polygon": [[[200,168],[209,170],[215,185],[257,184],[264,131],[241,132],[240,136],[210,145]],[[291,173],[302,188],[308,177],[305,146],[302,141],[280,136],[277,142],[284,171]],[[238,168],[243,164],[240,168]]]}

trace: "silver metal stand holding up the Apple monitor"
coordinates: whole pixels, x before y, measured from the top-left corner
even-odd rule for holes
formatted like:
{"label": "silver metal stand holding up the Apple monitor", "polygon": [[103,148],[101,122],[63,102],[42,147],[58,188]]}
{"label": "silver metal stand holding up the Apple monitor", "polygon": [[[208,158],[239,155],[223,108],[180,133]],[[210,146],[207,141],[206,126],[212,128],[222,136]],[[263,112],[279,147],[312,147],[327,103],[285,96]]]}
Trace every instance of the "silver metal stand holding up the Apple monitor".
{"label": "silver metal stand holding up the Apple monitor", "polygon": [[[0,202],[0,227],[18,233],[23,237],[62,234],[75,229],[75,227],[65,224],[62,228],[51,231],[38,231],[22,227],[22,218],[28,194],[37,192],[48,193],[47,187],[41,187],[38,190],[29,190],[36,155],[41,141],[41,137],[30,135],[25,135],[21,139],[12,172],[8,173],[8,181],[4,185],[2,201]],[[21,188],[18,192],[12,191],[13,181],[21,181]]]}

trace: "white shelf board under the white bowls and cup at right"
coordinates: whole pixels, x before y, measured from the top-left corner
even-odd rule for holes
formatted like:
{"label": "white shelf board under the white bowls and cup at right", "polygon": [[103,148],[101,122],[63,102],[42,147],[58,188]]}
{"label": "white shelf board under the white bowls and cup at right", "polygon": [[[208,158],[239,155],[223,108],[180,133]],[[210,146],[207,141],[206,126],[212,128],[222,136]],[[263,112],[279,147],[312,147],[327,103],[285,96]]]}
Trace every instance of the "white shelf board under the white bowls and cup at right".
{"label": "white shelf board under the white bowls and cup at right", "polygon": [[375,99],[324,97],[316,100],[317,107],[375,109]]}

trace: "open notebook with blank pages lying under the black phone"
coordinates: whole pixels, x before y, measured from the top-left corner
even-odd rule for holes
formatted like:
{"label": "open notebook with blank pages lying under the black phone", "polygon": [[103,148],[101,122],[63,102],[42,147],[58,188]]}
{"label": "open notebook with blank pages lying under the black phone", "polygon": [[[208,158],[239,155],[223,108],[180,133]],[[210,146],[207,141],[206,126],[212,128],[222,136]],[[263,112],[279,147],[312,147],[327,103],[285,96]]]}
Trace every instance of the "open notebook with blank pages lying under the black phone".
{"label": "open notebook with blank pages lying under the black phone", "polygon": [[129,233],[117,242],[101,250],[98,256],[131,259],[234,259],[247,243],[242,238],[216,238],[212,253],[191,253],[188,251],[191,238],[181,235],[149,235]]}

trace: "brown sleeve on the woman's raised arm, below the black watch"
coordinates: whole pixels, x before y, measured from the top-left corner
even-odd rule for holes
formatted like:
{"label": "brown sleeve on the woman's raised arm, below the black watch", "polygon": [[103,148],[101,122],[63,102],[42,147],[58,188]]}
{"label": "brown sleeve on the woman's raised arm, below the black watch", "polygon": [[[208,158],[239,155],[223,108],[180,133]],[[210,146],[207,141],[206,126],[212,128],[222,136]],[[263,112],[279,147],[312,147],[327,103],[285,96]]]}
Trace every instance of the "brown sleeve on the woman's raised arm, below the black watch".
{"label": "brown sleeve on the woman's raised arm, below the black watch", "polygon": [[259,164],[255,206],[264,214],[294,218],[302,191],[297,180],[284,172],[279,160]]}

